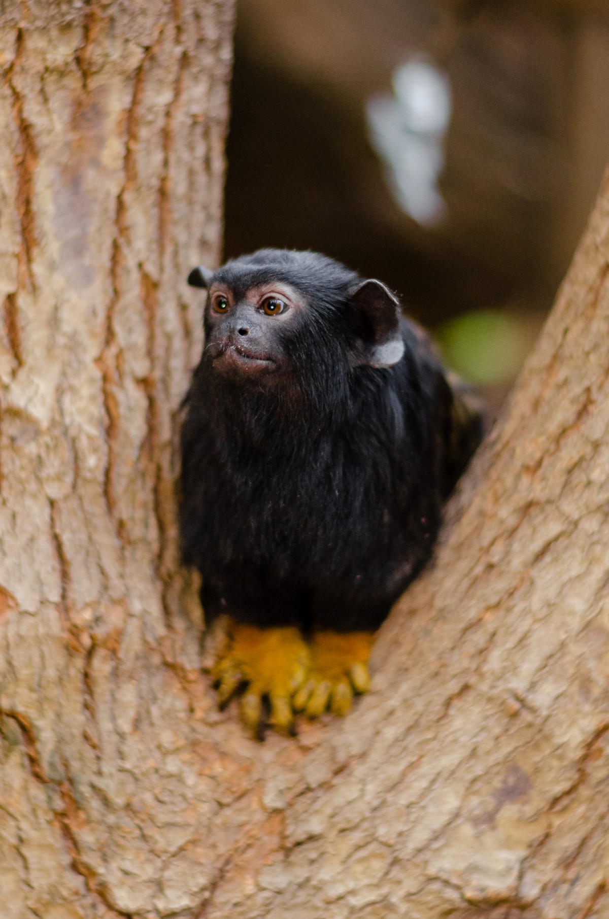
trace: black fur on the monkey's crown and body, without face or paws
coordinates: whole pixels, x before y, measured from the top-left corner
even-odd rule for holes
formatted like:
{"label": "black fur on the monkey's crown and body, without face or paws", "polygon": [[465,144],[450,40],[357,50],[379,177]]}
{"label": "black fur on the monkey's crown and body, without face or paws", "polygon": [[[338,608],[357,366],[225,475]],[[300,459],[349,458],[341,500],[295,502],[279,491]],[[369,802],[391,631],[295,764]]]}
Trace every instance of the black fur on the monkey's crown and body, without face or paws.
{"label": "black fur on the monkey's crown and body, without face or paws", "polygon": [[183,559],[203,575],[206,614],[375,630],[430,557],[479,416],[454,411],[458,396],[405,319],[395,365],[354,361],[358,340],[373,335],[353,305],[363,278],[332,259],[265,249],[201,271],[197,286],[221,283],[235,302],[253,285],[283,282],[306,304],[289,334],[269,321],[285,364],[260,379],[217,371],[206,309],[180,505]]}

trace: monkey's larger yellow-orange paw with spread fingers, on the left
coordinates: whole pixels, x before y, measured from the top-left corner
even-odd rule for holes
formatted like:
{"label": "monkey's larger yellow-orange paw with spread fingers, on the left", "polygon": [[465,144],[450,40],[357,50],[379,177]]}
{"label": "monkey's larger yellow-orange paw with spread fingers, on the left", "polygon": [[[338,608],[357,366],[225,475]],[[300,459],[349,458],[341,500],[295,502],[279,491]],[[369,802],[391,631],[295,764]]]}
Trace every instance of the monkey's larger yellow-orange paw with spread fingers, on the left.
{"label": "monkey's larger yellow-orange paw with spread fingers, on the left", "polygon": [[262,736],[263,700],[270,706],[273,727],[291,733],[291,698],[304,683],[309,667],[309,649],[298,629],[258,629],[231,622],[230,640],[212,670],[220,708],[247,684],[239,707],[243,722],[254,736]]}

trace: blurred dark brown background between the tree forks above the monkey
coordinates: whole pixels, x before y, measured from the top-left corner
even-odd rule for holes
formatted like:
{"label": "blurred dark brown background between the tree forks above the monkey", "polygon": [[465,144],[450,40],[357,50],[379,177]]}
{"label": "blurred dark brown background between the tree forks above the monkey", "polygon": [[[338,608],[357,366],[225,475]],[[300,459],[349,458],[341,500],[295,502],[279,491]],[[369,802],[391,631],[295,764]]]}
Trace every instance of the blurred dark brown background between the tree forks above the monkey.
{"label": "blurred dark brown background between the tree forks above the monkey", "polygon": [[607,163],[608,0],[238,0],[225,255],[381,278],[495,409]]}

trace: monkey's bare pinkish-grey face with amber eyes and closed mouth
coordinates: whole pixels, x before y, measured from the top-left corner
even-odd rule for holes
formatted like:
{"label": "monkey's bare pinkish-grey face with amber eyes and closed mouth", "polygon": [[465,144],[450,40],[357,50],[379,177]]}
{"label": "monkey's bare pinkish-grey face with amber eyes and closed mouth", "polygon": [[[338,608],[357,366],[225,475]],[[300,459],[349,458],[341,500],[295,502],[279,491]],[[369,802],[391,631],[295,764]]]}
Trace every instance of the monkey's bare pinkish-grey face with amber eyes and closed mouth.
{"label": "monkey's bare pinkish-grey face with amber eyes and closed mouth", "polygon": [[233,380],[265,378],[288,370],[285,342],[306,310],[299,292],[280,282],[239,289],[214,280],[206,306],[206,355]]}

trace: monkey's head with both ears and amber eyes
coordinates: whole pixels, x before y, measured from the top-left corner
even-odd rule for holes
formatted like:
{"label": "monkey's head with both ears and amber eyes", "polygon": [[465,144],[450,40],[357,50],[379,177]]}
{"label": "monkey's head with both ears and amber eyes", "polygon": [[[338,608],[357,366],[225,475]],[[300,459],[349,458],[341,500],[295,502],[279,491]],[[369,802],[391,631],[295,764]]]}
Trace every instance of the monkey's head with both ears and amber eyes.
{"label": "monkey's head with both ears and amber eyes", "polygon": [[336,389],[404,351],[395,296],[324,255],[261,249],[217,271],[196,267],[188,283],[208,291],[204,361],[238,384],[285,390],[290,378],[307,391],[314,378],[316,390]]}

